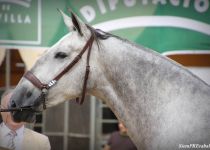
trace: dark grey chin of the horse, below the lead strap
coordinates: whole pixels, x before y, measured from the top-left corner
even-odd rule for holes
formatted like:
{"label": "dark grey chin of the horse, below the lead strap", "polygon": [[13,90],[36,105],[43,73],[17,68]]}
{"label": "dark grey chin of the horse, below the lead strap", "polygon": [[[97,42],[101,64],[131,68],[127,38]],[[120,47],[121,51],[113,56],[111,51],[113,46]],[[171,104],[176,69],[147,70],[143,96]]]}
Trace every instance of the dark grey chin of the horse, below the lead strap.
{"label": "dark grey chin of the horse, below the lead strap", "polygon": [[12,112],[12,118],[15,122],[28,122],[32,123],[35,122],[36,113],[35,112],[28,112],[28,111],[17,111]]}

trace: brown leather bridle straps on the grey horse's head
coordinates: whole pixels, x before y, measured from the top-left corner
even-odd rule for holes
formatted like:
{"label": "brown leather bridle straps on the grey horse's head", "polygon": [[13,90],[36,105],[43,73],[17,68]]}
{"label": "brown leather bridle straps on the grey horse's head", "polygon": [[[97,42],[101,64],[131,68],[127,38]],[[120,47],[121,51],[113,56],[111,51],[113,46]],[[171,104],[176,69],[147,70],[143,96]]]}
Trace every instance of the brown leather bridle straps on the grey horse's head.
{"label": "brown leather bridle straps on the grey horse's head", "polygon": [[89,60],[90,60],[90,52],[92,48],[92,44],[94,42],[94,36],[93,34],[91,35],[90,39],[87,41],[85,46],[83,47],[82,51],[69,63],[69,65],[63,69],[55,78],[53,78],[48,84],[42,83],[31,71],[27,71],[24,74],[24,77],[28,79],[34,86],[36,86],[40,91],[41,94],[39,98],[41,99],[43,103],[43,109],[46,109],[46,96],[51,87],[53,87],[56,82],[64,75],[66,74],[73,66],[81,59],[82,55],[86,50],[88,50],[87,53],[87,62],[86,62],[86,71],[85,71],[85,77],[84,77],[84,83],[83,83],[83,89],[82,89],[82,97],[79,100],[79,98],[76,98],[76,101],[79,104],[82,104],[85,99],[85,93],[86,93],[86,87],[87,87],[87,80],[90,72],[90,65],[89,65]]}

